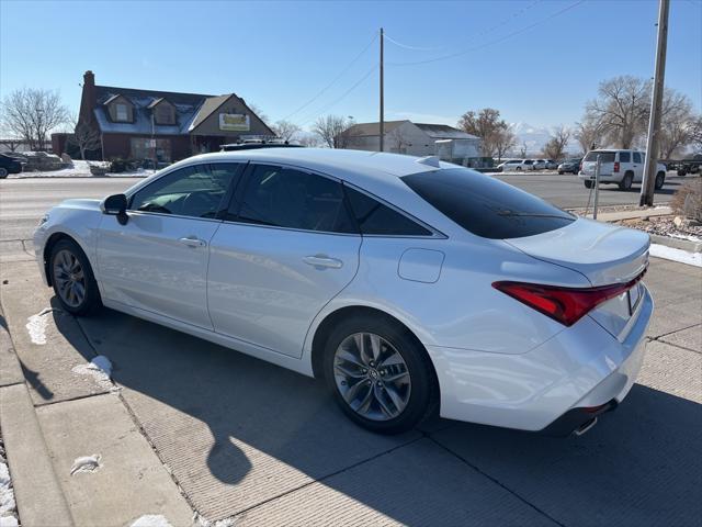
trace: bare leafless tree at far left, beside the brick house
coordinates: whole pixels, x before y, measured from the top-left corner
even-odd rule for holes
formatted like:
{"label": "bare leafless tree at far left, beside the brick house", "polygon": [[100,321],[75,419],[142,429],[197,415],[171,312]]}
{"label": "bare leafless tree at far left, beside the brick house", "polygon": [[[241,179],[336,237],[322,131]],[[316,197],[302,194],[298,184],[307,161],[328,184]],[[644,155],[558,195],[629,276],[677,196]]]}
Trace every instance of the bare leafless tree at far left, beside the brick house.
{"label": "bare leafless tree at far left, beside the brick house", "polygon": [[25,141],[30,149],[41,150],[48,134],[66,123],[68,110],[57,91],[22,88],[4,98],[2,120],[3,127]]}

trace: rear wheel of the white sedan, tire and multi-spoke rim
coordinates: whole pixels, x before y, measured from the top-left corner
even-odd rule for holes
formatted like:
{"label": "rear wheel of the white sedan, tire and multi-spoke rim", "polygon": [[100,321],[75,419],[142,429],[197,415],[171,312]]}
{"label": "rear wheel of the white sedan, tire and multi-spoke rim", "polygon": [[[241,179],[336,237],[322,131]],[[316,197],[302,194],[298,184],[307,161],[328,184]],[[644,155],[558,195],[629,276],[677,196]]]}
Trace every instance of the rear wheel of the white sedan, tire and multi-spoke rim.
{"label": "rear wheel of the white sedan, tire and multi-spoke rim", "polygon": [[375,433],[407,431],[437,407],[438,386],[426,349],[389,317],[341,322],[327,339],[324,372],[343,413]]}

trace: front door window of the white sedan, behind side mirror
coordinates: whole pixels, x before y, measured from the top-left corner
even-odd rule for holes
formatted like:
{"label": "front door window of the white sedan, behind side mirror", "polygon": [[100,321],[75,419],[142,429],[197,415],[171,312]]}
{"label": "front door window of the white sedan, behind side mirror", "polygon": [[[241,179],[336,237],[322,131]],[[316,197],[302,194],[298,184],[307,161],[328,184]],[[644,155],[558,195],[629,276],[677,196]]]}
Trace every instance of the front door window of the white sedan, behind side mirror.
{"label": "front door window of the white sedan, behind side mirror", "polygon": [[237,165],[181,168],[139,190],[132,198],[133,211],[158,212],[192,217],[215,217]]}

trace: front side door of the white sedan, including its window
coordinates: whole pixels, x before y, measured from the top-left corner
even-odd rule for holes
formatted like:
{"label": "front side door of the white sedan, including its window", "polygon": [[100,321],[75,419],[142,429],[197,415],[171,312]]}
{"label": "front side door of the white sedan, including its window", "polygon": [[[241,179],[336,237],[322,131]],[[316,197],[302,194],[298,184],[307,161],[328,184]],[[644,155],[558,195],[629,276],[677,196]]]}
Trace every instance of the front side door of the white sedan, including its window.
{"label": "front side door of the white sedan, including its window", "polygon": [[207,314],[208,247],[240,167],[174,170],[129,198],[125,225],[104,216],[98,236],[103,298],[213,329]]}

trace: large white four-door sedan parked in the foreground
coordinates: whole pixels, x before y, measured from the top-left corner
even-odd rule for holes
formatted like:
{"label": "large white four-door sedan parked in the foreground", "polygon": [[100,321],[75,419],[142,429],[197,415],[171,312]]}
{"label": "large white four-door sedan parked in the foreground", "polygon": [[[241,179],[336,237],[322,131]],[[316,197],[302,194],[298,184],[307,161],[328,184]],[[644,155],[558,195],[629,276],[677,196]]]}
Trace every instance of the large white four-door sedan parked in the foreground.
{"label": "large white four-door sedan parked in the foreground", "polygon": [[178,162],[35,234],[64,310],[101,305],[325,379],[380,433],[582,433],[627,394],[648,236],[435,158],[271,148]]}

